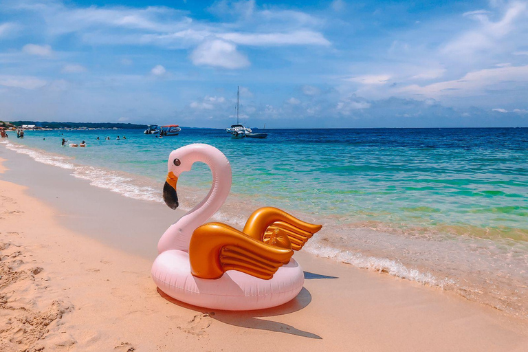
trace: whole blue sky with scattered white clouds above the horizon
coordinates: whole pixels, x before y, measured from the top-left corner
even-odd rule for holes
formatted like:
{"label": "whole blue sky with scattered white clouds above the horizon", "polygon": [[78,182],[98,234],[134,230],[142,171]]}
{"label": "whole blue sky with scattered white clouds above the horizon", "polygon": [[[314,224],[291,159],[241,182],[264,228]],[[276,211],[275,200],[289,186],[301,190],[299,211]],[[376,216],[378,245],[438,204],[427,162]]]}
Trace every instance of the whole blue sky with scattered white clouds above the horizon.
{"label": "whole blue sky with scattered white clouds above the horizon", "polygon": [[0,120],[528,126],[527,1],[3,1]]}

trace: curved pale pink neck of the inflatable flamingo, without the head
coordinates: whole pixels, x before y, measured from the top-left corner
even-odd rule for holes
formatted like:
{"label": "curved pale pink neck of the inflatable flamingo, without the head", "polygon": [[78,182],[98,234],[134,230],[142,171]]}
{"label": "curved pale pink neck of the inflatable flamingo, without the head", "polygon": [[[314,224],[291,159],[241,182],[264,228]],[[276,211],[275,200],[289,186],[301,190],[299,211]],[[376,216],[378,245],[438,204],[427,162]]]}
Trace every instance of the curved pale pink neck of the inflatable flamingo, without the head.
{"label": "curved pale pink neck of the inflatable flamingo, without the head", "polygon": [[165,231],[157,245],[159,253],[166,250],[188,252],[192,232],[208,221],[228,197],[231,189],[231,166],[228,159],[221,152],[219,153],[222,157],[220,160],[219,155],[214,155],[214,157],[198,155],[195,159],[195,162],[204,162],[211,169],[211,189],[202,201]]}

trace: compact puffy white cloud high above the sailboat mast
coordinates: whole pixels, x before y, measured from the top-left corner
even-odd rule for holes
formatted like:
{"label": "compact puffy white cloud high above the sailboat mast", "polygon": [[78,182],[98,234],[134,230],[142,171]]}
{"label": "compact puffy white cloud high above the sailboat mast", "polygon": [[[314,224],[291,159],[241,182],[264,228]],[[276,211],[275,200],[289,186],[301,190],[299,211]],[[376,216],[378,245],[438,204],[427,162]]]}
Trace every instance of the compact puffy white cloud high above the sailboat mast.
{"label": "compact puffy white cloud high above the sailboat mast", "polygon": [[236,45],[219,39],[206,41],[199,45],[190,54],[190,59],[195,65],[226,69],[239,69],[250,65],[248,58],[236,51]]}

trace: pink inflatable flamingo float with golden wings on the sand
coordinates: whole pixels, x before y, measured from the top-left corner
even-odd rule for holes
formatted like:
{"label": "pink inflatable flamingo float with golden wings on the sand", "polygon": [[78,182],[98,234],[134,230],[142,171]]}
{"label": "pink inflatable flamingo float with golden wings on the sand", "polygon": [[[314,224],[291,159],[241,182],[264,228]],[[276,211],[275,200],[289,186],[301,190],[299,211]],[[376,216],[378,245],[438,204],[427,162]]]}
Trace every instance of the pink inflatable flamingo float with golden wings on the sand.
{"label": "pink inflatable flamingo float with golden wings on the sand", "polygon": [[159,240],[152,265],[157,287],[190,305],[233,311],[276,307],[295,298],[305,278],[292,255],[322,226],[270,207],[253,212],[242,231],[205,223],[231,189],[228,159],[208,144],[190,144],[170,153],[163,188],[170,208],[178,206],[179,175],[195,162],[210,167],[212,187]]}

